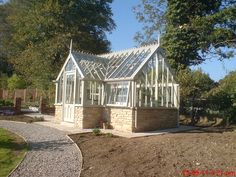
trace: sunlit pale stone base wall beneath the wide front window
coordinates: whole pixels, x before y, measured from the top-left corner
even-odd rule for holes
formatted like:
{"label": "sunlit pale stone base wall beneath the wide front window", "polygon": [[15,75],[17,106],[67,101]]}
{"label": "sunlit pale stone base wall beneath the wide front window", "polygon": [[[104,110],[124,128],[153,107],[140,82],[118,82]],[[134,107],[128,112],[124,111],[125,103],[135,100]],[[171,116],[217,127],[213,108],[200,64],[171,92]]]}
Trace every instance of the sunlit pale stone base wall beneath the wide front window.
{"label": "sunlit pale stone base wall beneath the wide front window", "polygon": [[134,109],[107,107],[104,117],[114,130],[132,132],[134,127]]}

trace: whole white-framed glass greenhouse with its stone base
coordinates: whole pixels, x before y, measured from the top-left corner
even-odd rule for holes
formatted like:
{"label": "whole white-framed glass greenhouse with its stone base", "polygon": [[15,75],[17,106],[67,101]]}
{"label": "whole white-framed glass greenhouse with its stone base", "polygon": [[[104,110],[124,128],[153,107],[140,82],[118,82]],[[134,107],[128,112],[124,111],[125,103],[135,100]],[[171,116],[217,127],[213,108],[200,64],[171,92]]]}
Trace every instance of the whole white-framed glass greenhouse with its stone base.
{"label": "whole white-framed glass greenhouse with its stone base", "polygon": [[129,132],[178,126],[179,85],[158,44],[102,55],[71,47],[55,83],[58,123]]}

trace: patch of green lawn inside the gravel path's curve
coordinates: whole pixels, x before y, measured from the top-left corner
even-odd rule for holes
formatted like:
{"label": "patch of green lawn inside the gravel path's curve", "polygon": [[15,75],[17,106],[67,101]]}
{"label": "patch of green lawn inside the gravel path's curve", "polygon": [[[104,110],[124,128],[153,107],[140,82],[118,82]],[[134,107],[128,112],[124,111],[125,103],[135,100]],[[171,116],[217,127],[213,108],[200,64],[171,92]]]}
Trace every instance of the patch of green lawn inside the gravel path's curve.
{"label": "patch of green lawn inside the gravel path's curve", "polygon": [[0,177],[6,177],[24,158],[26,142],[16,134],[0,128]]}

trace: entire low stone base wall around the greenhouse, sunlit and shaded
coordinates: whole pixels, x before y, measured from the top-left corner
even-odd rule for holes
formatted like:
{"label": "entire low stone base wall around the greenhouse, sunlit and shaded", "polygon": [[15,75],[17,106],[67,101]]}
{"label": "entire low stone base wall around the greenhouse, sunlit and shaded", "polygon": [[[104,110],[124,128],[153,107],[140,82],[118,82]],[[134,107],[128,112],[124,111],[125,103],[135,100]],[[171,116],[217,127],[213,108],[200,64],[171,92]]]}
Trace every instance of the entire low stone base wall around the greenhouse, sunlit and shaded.
{"label": "entire low stone base wall around the greenhouse, sunlit and shaded", "polygon": [[[55,105],[55,122],[62,119],[62,106]],[[178,126],[178,110],[174,108],[81,107],[74,112],[75,127],[89,129],[107,121],[110,128],[123,132],[142,132]]]}

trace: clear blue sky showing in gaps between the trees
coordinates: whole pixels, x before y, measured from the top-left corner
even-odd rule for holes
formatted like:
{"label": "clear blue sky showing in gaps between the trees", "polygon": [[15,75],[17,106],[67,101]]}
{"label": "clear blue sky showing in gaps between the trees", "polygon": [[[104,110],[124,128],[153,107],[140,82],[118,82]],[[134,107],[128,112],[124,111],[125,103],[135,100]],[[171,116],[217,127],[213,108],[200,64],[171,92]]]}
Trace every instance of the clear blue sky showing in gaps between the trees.
{"label": "clear blue sky showing in gaps between the trees", "polygon": [[[135,33],[142,29],[142,24],[136,20],[132,7],[139,2],[140,0],[114,0],[112,11],[116,29],[111,34],[107,34],[108,40],[111,41],[112,51],[137,46],[133,38]],[[192,69],[198,68],[209,74],[213,80],[218,81],[230,71],[236,70],[236,56],[223,62],[217,59],[208,60],[201,65],[192,67]]]}

